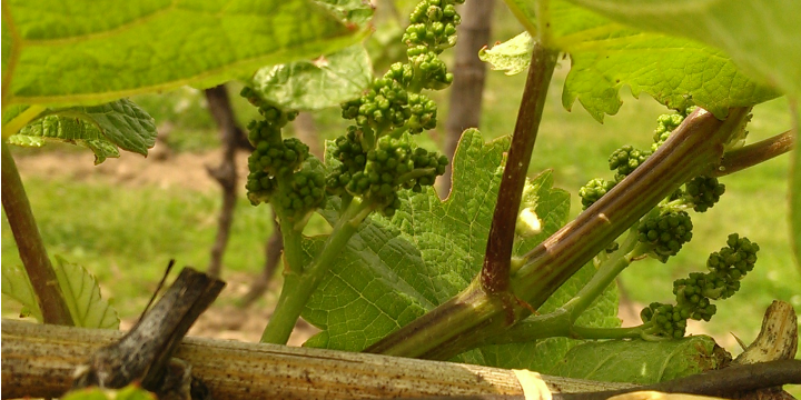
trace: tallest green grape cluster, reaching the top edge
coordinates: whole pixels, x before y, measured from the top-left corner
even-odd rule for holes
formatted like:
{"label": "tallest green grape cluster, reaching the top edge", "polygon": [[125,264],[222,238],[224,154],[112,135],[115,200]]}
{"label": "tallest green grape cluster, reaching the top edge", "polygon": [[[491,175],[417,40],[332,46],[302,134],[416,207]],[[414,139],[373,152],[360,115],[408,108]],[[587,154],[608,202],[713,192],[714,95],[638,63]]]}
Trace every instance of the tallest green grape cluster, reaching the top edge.
{"label": "tallest green grape cluster, reaching the top edge", "polygon": [[355,124],[332,147],[340,163],[326,179],[329,192],[359,197],[392,216],[400,206],[398,190],[422,191],[445,172],[447,158],[417,148],[409,136],[436,127],[436,103],[421,91],[453,82],[438,54],[456,43],[455,4],[462,2],[421,1],[403,36],[408,62],[393,64],[364,96],[343,104],[343,118]]}

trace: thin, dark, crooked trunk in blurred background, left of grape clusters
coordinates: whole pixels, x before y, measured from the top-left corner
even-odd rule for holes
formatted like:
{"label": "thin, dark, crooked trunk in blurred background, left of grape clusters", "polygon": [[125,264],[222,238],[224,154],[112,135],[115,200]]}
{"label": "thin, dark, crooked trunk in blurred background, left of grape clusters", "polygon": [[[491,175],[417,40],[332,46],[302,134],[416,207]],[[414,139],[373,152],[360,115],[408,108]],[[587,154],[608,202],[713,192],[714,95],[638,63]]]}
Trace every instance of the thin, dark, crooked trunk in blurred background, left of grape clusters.
{"label": "thin, dark, crooked trunk in blurred background, left of grape clusters", "polygon": [[217,220],[217,237],[211,247],[211,260],[209,261],[208,274],[219,277],[222,269],[222,256],[228,246],[230,227],[234,222],[234,208],[236,207],[236,150],[241,147],[240,138],[245,137],[241,128],[237,126],[234,118],[234,110],[230,106],[228,91],[225,84],[206,89],[206,100],[209,112],[217,122],[222,142],[222,161],[218,167],[207,167],[208,173],[222,188],[222,209]]}

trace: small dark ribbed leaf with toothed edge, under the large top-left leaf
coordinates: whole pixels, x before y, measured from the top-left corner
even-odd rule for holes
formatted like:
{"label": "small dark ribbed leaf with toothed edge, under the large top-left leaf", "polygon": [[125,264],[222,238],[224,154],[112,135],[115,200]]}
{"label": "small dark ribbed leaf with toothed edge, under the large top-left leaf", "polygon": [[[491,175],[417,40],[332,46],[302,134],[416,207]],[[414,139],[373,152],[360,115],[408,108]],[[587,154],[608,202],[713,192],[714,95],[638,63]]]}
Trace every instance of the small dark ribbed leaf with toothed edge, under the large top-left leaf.
{"label": "small dark ribbed leaf with toothed edge, under the large top-left leaf", "polygon": [[43,139],[60,140],[91,149],[95,163],[119,157],[118,147],[147,156],[156,143],[156,122],[128,99],[91,107],[51,109],[9,137],[18,146],[40,147]]}

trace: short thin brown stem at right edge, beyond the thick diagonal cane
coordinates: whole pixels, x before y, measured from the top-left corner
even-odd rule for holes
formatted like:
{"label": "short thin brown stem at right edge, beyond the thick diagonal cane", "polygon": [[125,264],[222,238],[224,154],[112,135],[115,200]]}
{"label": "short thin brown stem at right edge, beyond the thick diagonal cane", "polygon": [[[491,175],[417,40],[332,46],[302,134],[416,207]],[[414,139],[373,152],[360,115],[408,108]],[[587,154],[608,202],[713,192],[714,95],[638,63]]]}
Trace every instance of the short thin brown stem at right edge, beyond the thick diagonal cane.
{"label": "short thin brown stem at right edge, beyond the thick diagonal cane", "polygon": [[720,167],[715,168],[711,176],[723,177],[742,171],[789,152],[794,146],[795,138],[791,131],[787,131],[756,143],[728,151],[723,154],[723,161],[721,161]]}

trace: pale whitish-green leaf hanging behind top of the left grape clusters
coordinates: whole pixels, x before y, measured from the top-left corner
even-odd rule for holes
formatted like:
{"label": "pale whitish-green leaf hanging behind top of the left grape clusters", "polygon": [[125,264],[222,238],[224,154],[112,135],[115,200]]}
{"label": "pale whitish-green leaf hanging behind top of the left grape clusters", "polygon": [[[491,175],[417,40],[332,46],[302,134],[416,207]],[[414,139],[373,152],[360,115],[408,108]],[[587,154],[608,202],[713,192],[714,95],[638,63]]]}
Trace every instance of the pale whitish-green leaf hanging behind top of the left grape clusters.
{"label": "pale whitish-green leaf hanging behind top of the left grape clusters", "polygon": [[250,86],[281,108],[319,110],[362,96],[372,79],[367,51],[354,44],[316,60],[261,68]]}

